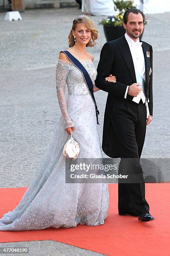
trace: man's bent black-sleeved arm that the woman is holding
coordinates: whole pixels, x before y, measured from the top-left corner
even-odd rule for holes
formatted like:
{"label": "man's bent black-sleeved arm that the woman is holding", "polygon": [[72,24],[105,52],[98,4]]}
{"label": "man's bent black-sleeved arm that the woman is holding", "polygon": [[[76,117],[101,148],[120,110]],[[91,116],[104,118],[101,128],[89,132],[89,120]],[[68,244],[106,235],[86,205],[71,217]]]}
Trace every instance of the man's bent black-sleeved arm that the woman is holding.
{"label": "man's bent black-sleeved arm that the woman is holding", "polygon": [[127,84],[122,84],[120,82],[110,83],[105,80],[106,77],[109,77],[109,75],[112,74],[112,66],[114,61],[114,53],[110,48],[110,44],[105,43],[100,53],[100,61],[97,67],[95,85],[97,88],[105,92],[110,92],[116,96],[124,98]]}

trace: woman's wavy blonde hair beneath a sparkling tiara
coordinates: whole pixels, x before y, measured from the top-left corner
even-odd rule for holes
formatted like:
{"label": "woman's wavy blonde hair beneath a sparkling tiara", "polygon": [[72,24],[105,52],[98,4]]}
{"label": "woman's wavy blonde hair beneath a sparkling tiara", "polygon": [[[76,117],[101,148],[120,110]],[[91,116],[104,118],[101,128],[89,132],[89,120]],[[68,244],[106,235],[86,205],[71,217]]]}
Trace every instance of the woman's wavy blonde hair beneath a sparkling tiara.
{"label": "woman's wavy blonde hair beneath a sparkling tiara", "polygon": [[95,28],[94,24],[92,23],[92,20],[90,20],[89,18],[85,18],[85,17],[81,17],[78,18],[77,20],[73,20],[72,23],[72,29],[70,31],[70,34],[68,36],[68,42],[69,42],[69,47],[72,47],[75,45],[75,41],[74,41],[74,36],[72,35],[72,30],[75,31],[75,28],[77,26],[77,24],[82,23],[86,28],[88,28],[91,31],[91,40],[88,42],[88,44],[86,44],[86,47],[93,47],[96,45],[95,40],[97,39],[98,35],[98,31]]}

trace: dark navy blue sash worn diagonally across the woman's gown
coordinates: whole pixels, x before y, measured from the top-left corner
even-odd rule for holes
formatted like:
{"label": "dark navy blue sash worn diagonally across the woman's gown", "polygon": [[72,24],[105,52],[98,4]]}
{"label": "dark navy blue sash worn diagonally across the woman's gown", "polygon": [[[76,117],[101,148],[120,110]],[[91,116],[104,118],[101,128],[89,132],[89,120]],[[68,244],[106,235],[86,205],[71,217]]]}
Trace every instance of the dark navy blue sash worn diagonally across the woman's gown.
{"label": "dark navy blue sash worn diagonally across the woman's gown", "polygon": [[67,55],[68,59],[70,59],[70,61],[82,72],[85,82],[87,84],[88,90],[92,96],[92,100],[95,103],[97,124],[99,124],[99,120],[98,120],[99,110],[97,109],[97,104],[96,104],[95,96],[93,93],[93,83],[92,83],[92,79],[90,78],[90,75],[88,74],[85,67],[83,67],[83,65],[80,63],[80,61],[76,59],[69,51],[60,51],[60,52],[64,52],[65,55]]}

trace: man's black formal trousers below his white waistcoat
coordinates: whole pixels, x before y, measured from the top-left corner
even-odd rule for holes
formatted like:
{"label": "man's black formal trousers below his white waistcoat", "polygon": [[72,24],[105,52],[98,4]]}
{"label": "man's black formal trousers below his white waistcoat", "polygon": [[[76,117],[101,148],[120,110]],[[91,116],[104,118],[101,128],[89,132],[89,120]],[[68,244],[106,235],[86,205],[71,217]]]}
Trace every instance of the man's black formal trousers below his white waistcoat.
{"label": "man's black formal trousers below his white waistcoat", "polygon": [[[146,133],[145,104],[143,104],[142,100],[137,104],[133,101],[117,98],[113,103],[111,125],[121,158],[119,173],[122,174],[122,169],[124,168],[123,174],[128,174],[131,165],[133,172],[143,177],[140,156]],[[123,164],[124,162],[125,164]],[[149,212],[149,205],[145,200],[144,179],[143,182],[140,179],[140,183],[119,182],[118,210],[119,212],[133,210],[137,214]]]}

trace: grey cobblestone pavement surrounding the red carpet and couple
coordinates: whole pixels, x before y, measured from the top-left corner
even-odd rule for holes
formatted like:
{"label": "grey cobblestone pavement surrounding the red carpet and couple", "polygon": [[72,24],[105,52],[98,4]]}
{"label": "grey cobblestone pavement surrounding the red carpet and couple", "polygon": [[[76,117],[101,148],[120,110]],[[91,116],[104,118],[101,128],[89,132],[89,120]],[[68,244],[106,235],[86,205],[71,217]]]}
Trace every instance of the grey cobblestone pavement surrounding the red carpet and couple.
{"label": "grey cobblestone pavement surrounding the red carpet and couple", "polygon": [[[79,14],[74,8],[27,10],[21,14],[22,21],[7,22],[3,20],[5,13],[0,13],[0,187],[28,187],[40,165],[60,116],[55,65],[60,50],[68,49],[72,20]],[[88,51],[94,55],[97,67],[105,36],[98,25],[102,17],[91,18],[99,38],[97,46]],[[147,15],[147,18],[150,22],[145,27],[143,41],[152,44],[154,51],[154,113],[153,122],[147,127],[142,156],[168,158],[170,13]],[[102,141],[107,93],[99,91],[95,97],[100,109]],[[32,255],[35,255],[33,248],[38,250],[36,255],[48,255],[47,251],[43,252],[46,245],[56,248],[55,255],[85,255],[82,249],[55,241],[20,244],[32,248]],[[4,245],[8,243],[1,244]]]}

